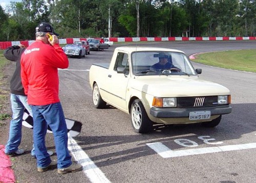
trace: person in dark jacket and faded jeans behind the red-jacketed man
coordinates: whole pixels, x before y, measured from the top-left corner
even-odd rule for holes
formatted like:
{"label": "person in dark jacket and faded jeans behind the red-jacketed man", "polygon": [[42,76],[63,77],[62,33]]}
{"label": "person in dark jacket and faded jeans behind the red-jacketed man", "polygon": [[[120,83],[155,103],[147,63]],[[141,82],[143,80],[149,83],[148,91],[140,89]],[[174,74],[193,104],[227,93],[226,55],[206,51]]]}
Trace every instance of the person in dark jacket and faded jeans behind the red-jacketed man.
{"label": "person in dark jacket and faded jeans behind the red-jacketed man", "polygon": [[[4,52],[6,59],[16,62],[16,68],[10,82],[11,108],[13,114],[12,120],[10,122],[9,140],[5,146],[6,154],[24,153],[24,149],[18,149],[18,146],[22,140],[22,121],[25,108],[32,115],[32,109],[27,102],[27,96],[24,92],[22,80],[20,77],[20,57],[22,56],[25,49],[25,46],[20,44],[18,46],[15,45],[8,47]],[[50,155],[53,154],[52,151],[48,151],[48,153]],[[35,157],[34,147],[31,151],[31,155]]]}

